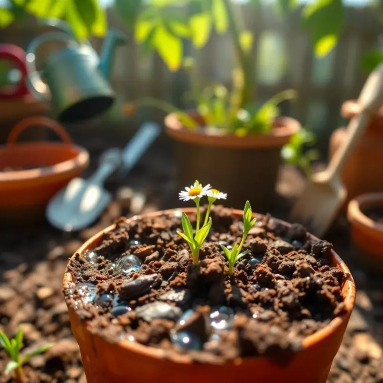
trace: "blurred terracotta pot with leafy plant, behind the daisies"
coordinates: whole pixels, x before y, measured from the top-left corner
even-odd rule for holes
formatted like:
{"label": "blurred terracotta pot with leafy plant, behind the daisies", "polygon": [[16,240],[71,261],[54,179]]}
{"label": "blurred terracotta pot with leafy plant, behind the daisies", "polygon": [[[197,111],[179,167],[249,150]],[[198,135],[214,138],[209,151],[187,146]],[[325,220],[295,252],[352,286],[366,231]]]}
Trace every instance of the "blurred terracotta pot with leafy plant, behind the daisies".
{"label": "blurred terracotta pot with leafy plant, behind the daisies", "polygon": [[[203,125],[201,117],[191,117]],[[208,135],[202,129],[185,128],[176,114],[167,116],[165,125],[177,142],[179,188],[197,179],[227,192],[228,206],[243,208],[251,199],[254,210],[262,213],[270,209],[275,197],[281,148],[300,128],[298,121],[280,117],[270,134]]]}

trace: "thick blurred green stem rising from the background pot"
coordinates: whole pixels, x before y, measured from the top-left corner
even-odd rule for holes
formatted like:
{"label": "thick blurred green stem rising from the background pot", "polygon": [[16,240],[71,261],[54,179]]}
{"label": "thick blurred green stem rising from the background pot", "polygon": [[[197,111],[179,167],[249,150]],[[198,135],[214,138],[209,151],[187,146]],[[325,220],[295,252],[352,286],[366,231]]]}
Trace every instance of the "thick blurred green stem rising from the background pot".
{"label": "thick blurred green stem rising from the background pot", "polygon": [[239,64],[241,66],[243,76],[244,76],[241,102],[239,103],[242,107],[245,103],[250,101],[251,97],[254,96],[253,89],[252,89],[254,85],[254,80],[253,80],[253,76],[251,72],[249,55],[243,51],[241,46],[241,42],[240,42],[241,31],[240,31],[238,22],[235,18],[235,9],[232,6],[231,0],[222,0],[222,1],[223,1],[223,4],[225,5],[226,13],[228,16],[231,37],[234,43],[234,49],[236,50]]}

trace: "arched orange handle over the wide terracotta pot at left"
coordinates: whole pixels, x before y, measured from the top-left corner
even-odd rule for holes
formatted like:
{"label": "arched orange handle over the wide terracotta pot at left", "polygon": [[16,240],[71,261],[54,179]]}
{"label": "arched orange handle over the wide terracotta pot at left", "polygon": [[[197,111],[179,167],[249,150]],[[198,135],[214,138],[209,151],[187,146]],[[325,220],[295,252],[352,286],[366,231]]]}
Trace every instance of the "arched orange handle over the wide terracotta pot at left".
{"label": "arched orange handle over the wide terracotta pot at left", "polygon": [[25,129],[31,127],[31,126],[44,126],[46,128],[52,129],[54,133],[57,134],[57,136],[65,143],[65,144],[71,144],[72,139],[70,138],[69,134],[66,132],[66,130],[56,121],[51,120],[48,117],[28,117],[21,120],[19,123],[17,123],[12,130],[10,131],[8,135],[8,139],[6,141],[6,145],[11,146],[14,145],[17,141],[18,136],[20,133],[22,133]]}

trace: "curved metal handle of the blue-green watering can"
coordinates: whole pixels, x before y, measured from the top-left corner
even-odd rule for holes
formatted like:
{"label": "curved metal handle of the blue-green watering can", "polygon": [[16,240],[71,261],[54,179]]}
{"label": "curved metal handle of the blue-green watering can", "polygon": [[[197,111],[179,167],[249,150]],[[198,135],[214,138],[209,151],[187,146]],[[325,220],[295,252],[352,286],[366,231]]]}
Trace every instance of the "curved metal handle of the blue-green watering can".
{"label": "curved metal handle of the blue-green watering can", "polygon": [[[41,84],[44,82],[41,79],[37,69],[36,69],[36,50],[37,48],[45,42],[48,41],[62,41],[62,42],[72,42],[76,43],[73,39],[73,36],[66,32],[49,32],[37,36],[34,38],[28,47],[26,48],[26,68],[28,71],[28,88],[30,92],[37,98],[43,101],[50,99],[48,93],[41,90]],[[40,88],[40,90],[39,90]]]}

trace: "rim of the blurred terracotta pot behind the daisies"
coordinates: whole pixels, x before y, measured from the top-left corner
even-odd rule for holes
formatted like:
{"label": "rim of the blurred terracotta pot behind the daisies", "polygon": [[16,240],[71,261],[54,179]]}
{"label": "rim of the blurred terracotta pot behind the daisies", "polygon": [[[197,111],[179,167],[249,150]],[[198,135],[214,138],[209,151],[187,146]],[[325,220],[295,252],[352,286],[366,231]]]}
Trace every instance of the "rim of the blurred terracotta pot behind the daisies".
{"label": "rim of the blurred terracotta pot behind the daisies", "polygon": [[[190,113],[191,117],[196,113]],[[197,116],[197,118],[200,116]],[[274,148],[286,145],[290,137],[297,133],[300,123],[291,117],[277,117],[274,120],[274,129],[269,134],[248,134],[237,137],[232,134],[208,135],[202,129],[192,131],[186,128],[177,113],[165,117],[166,133],[173,139],[194,145],[213,146],[220,148]]]}

